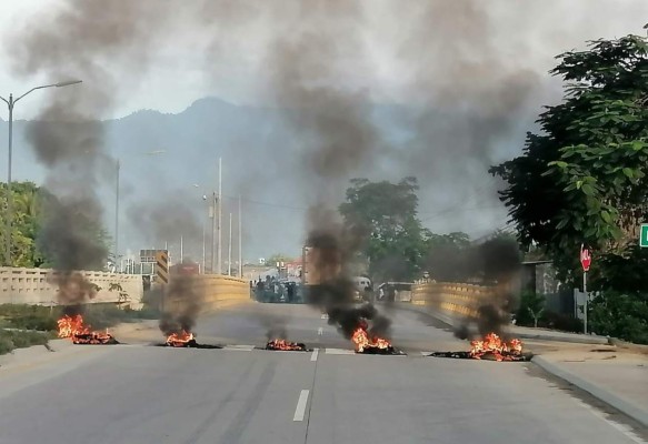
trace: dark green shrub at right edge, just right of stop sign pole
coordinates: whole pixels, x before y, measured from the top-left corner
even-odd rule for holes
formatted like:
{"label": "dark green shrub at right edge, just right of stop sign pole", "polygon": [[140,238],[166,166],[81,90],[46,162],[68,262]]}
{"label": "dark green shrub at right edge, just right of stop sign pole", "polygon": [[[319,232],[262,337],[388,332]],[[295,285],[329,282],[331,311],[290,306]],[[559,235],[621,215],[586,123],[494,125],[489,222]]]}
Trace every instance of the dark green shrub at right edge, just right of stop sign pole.
{"label": "dark green shrub at right edge, just right of stop sign pole", "polygon": [[640,293],[606,291],[589,303],[590,330],[636,344],[648,344],[648,299]]}

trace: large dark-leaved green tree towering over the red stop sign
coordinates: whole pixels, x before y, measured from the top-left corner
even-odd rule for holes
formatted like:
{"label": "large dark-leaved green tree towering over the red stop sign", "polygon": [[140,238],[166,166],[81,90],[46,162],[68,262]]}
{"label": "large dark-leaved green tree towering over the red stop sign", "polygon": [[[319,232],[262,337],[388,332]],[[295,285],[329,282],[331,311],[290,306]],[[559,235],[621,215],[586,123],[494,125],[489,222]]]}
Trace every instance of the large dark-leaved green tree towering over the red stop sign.
{"label": "large dark-leaved green tree towering over the red stop sign", "polygon": [[[628,36],[560,54],[552,73],[568,82],[565,100],[540,115],[521,157],[490,170],[508,184],[501,200],[520,241],[549,253],[564,280],[576,278],[581,243],[595,259],[628,260],[646,219],[647,50]],[[605,262],[595,260],[592,278]]]}

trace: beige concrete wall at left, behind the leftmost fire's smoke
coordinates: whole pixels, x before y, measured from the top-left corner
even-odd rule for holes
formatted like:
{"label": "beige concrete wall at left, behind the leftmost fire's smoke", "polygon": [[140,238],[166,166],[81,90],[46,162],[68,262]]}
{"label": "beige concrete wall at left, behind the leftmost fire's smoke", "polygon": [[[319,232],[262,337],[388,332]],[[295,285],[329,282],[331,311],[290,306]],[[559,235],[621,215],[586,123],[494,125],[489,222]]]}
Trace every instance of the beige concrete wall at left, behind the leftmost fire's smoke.
{"label": "beige concrete wall at left, behind the leftmost fire's smoke", "polygon": [[[0,268],[0,304],[54,305],[58,303],[58,286],[50,284],[53,270]],[[119,292],[108,291],[111,283],[119,283],[130,301],[138,303],[143,293],[142,279],[133,274],[81,272],[86,279],[101,287],[90,302],[117,302]]]}

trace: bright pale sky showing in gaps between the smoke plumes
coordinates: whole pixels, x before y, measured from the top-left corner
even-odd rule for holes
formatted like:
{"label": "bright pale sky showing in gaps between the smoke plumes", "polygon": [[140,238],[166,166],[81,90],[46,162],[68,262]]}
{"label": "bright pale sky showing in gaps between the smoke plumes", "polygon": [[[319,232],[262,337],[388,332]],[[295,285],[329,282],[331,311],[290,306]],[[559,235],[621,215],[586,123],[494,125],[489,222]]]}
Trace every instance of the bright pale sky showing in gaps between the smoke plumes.
{"label": "bright pale sky showing in gaps between the smoke plumes", "polygon": [[[119,1],[119,0],[118,0]],[[137,1],[137,0],[133,0]],[[160,0],[169,3],[168,0]],[[221,0],[208,0],[208,3],[226,3]],[[38,14],[48,14],[52,9],[63,3],[59,0],[20,0],[0,2],[0,30],[3,38],[11,36],[14,30],[33,23]],[[179,10],[186,8],[188,2]],[[201,3],[196,1],[193,3]],[[253,3],[253,2],[252,2]],[[257,4],[270,4],[258,1]],[[272,2],[287,3],[286,1]],[[408,39],[408,21],[416,16],[417,8],[426,1],[372,0],[361,2],[366,7],[367,23],[363,36],[369,42],[368,48],[372,60],[370,72],[355,73],[350,69],[347,74],[350,84],[357,83],[360,88],[370,88],[377,100],[407,102],[416,99],[416,93],[405,88],[407,70],[403,71],[402,60],[398,53],[398,46]],[[516,40],[528,42],[537,39],[534,54],[529,54],[530,63],[539,71],[551,67],[552,56],[582,46],[582,41],[599,37],[610,38],[629,32],[642,33],[642,22],[648,22],[648,1],[646,0],[542,0],[525,2],[491,2],[494,4],[494,23],[500,28],[496,30],[497,39],[502,43],[502,51],[515,47]],[[517,4],[511,4],[517,3]],[[308,4],[308,0],[303,1]],[[541,7],[539,7],[541,4]],[[370,7],[369,7],[370,6]],[[406,6],[410,6],[408,11]],[[511,6],[509,9],[508,6]],[[529,6],[528,14],[519,12]],[[532,7],[531,7],[532,6]],[[402,9],[401,9],[402,7]],[[268,8],[265,8],[268,9]],[[280,9],[280,8],[277,8]],[[397,11],[400,17],[395,17]],[[262,87],[262,72],[259,67],[263,61],[266,38],[275,28],[291,23],[285,18],[283,23],[272,23],[270,20],[256,19],[245,28],[219,31],[222,48],[218,51],[218,70],[205,70],[205,30],[191,29],[188,19],[187,26],[172,31],[170,41],[157,48],[146,82],[129,90],[128,97],[120,97],[121,103],[113,111],[113,115],[124,115],[140,109],[154,109],[162,112],[179,112],[195,100],[206,95],[216,95],[233,103],[259,103],[265,101],[267,91]],[[286,27],[285,32],[290,32]],[[521,34],[520,34],[521,33]],[[6,39],[3,39],[7,41]],[[0,60],[7,60],[7,46],[0,48]],[[110,67],[129,82],[128,67]],[[218,74],[215,77],[213,72]],[[0,95],[9,92],[21,93],[32,85],[58,79],[21,78],[8,69],[3,62],[0,69]],[[90,87],[88,87],[90,88]],[[31,118],[39,109],[37,95],[30,97],[21,103],[18,110],[20,118]],[[6,115],[0,114],[3,119]]]}

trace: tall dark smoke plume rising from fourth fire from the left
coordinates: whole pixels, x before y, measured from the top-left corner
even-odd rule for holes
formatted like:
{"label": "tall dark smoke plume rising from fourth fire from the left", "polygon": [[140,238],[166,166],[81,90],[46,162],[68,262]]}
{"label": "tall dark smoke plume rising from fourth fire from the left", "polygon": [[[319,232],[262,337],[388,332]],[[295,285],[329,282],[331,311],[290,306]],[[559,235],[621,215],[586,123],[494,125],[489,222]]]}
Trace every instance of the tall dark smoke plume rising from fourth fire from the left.
{"label": "tall dark smoke plume rising from fourth fire from the left", "polygon": [[382,144],[367,91],[340,82],[348,58],[365,52],[357,28],[362,16],[360,3],[315,1],[269,53],[272,89],[298,141],[311,202],[306,244],[312,249],[309,272],[316,284],[309,286],[309,303],[326,311],[346,337],[362,320],[377,335],[386,335],[390,324],[373,306],[353,304],[348,265],[361,238],[342,229],[336,211],[348,181],[372,164]]}

